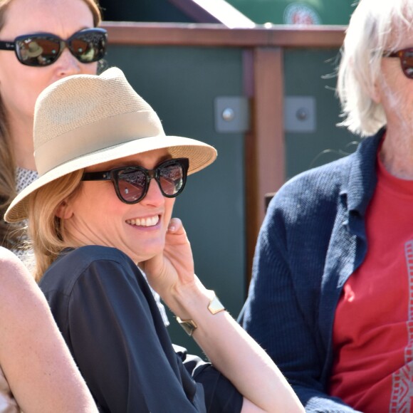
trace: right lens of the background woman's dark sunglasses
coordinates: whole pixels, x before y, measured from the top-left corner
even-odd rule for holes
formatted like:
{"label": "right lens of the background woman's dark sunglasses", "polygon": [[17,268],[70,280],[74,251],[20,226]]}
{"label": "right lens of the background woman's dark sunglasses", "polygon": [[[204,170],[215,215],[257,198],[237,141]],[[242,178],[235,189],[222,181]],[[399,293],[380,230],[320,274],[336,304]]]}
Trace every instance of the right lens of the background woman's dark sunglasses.
{"label": "right lens of the background woman's dark sunglasses", "polygon": [[73,56],[81,63],[99,61],[106,53],[107,34],[99,28],[90,28],[75,33],[68,40]]}

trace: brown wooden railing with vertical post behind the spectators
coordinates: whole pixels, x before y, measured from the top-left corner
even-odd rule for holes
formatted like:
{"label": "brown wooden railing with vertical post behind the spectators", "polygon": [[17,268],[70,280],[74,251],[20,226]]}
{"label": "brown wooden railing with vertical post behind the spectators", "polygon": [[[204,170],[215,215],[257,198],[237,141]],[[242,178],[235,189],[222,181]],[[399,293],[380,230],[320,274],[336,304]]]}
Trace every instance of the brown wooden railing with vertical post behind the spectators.
{"label": "brown wooden railing with vertical post behind the spectators", "polygon": [[[251,100],[251,130],[245,137],[246,254],[250,273],[256,237],[265,214],[265,194],[286,179],[283,127],[283,49],[339,48],[345,26],[228,28],[212,23],[103,22],[109,41],[137,46],[241,48],[244,93]],[[274,110],[279,108],[279,110]]]}

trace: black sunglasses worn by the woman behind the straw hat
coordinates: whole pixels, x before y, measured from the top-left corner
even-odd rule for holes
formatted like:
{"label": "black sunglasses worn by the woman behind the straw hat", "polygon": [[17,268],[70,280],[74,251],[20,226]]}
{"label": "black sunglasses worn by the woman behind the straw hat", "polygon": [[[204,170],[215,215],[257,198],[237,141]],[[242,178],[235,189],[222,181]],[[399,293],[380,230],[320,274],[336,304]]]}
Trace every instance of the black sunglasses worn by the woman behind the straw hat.
{"label": "black sunglasses worn by the woman behind the straw hat", "polygon": [[17,36],[14,41],[0,41],[0,50],[14,50],[20,63],[48,66],[55,63],[65,46],[81,63],[99,61],[106,53],[108,32],[104,28],[85,28],[67,40],[51,33]]}

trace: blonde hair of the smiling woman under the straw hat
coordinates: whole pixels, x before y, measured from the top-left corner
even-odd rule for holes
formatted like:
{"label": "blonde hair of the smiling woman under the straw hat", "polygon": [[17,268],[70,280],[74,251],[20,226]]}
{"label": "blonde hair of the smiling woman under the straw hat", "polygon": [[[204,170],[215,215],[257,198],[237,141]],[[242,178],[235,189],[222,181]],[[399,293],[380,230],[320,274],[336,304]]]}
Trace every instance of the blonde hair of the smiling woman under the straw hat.
{"label": "blonde hair of the smiling woman under the straw hat", "polygon": [[75,246],[63,226],[64,220],[56,216],[61,203],[75,197],[81,188],[83,169],[55,179],[31,194],[28,202],[29,246],[36,261],[34,277],[40,281],[43,273],[56,260],[63,249]]}

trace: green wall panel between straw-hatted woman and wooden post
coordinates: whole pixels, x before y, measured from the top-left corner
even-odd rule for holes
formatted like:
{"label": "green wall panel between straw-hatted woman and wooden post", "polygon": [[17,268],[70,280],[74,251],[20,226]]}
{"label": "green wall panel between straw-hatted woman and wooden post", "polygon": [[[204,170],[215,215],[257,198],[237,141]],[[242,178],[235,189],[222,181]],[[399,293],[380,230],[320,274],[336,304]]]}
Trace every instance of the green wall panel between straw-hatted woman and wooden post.
{"label": "green wall panel between straw-hatted woman and wooden post", "polygon": [[[214,99],[242,93],[241,51],[235,48],[110,46],[108,66],[120,67],[157,111],[169,135],[216,147],[214,164],[191,175],[177,198],[192,244],[195,271],[236,316],[245,296],[244,136],[218,133]],[[169,315],[174,343],[200,353]]]}

